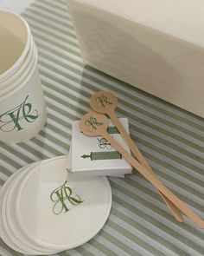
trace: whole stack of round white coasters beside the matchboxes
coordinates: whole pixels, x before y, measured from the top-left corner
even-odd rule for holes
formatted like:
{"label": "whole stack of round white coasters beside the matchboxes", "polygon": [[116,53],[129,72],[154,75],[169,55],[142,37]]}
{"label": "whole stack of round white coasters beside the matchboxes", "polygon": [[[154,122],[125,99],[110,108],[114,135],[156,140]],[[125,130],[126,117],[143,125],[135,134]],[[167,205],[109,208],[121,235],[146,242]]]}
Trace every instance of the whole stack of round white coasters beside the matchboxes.
{"label": "whole stack of round white coasters beside the matchboxes", "polygon": [[48,255],[80,246],[104,226],[112,206],[105,177],[73,177],[67,157],[11,175],[0,191],[0,235],[19,253]]}

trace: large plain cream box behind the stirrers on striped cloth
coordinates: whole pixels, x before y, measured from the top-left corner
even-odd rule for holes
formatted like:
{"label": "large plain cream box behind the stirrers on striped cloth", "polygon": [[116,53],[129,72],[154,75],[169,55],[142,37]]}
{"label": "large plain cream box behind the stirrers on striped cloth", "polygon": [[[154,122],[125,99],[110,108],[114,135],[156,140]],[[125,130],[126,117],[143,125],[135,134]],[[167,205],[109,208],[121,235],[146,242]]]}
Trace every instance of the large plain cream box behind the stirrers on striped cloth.
{"label": "large plain cream box behind the stirrers on striped cloth", "polygon": [[204,117],[202,0],[67,0],[84,62]]}

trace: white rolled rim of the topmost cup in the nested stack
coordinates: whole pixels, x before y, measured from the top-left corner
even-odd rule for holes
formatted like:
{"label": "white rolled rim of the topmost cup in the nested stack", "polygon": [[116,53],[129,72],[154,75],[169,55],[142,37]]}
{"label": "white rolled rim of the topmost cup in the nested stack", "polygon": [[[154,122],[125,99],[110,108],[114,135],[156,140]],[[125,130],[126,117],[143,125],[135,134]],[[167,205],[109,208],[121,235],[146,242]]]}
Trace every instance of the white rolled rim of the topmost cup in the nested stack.
{"label": "white rolled rim of the topmost cup in the nested stack", "polygon": [[27,39],[24,45],[24,49],[22,50],[21,55],[18,57],[18,59],[16,60],[16,62],[14,62],[11,67],[9,69],[7,69],[5,72],[3,72],[3,74],[0,75],[0,82],[2,79],[6,78],[8,75],[10,75],[11,73],[13,73],[16,70],[16,67],[18,65],[20,65],[21,62],[24,61],[25,57],[27,56],[27,53],[29,51],[29,47],[30,47],[30,41],[31,41],[31,31],[29,29],[29,24],[22,18],[22,16],[12,12],[12,11],[8,11],[8,10],[0,10],[0,13],[6,13],[10,16],[15,16],[16,18],[18,18],[19,20],[21,20],[21,22],[23,23],[25,30],[26,30],[26,34],[27,34]]}

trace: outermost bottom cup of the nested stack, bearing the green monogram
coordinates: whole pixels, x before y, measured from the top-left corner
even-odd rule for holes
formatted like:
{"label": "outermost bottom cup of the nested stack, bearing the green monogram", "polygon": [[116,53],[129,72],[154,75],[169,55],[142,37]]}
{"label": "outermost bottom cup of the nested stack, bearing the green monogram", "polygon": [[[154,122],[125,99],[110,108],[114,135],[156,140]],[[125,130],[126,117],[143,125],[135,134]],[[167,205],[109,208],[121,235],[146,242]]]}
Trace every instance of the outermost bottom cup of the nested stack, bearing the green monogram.
{"label": "outermost bottom cup of the nested stack, bearing the green monogram", "polygon": [[29,141],[41,131],[47,111],[37,69],[37,57],[29,75],[10,93],[0,96],[0,141]]}

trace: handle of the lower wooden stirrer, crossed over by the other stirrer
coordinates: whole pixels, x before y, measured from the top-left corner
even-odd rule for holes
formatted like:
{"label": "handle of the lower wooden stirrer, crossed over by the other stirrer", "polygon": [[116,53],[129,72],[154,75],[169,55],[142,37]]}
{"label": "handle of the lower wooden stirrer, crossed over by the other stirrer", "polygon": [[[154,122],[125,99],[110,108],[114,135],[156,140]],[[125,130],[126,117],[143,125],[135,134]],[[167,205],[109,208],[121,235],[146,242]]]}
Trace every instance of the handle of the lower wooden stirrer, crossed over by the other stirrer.
{"label": "handle of the lower wooden stirrer, crossed over by the other stirrer", "polygon": [[[139,151],[136,144],[131,140],[131,137],[126,132],[123,124],[118,120],[118,117],[117,117],[117,115],[115,115],[115,112],[114,111],[109,111],[108,115],[110,116],[113,124],[118,128],[120,134],[124,138],[124,141],[126,141],[129,148],[131,148],[132,154],[134,154],[134,156],[143,165],[143,167],[146,167],[150,171],[151,174],[156,176],[156,174],[153,172],[152,168],[150,167],[149,163],[143,157],[143,154]],[[166,205],[169,207],[169,210],[171,211],[171,213],[174,214],[175,219],[182,222],[183,217],[182,217],[182,213],[180,212],[180,210],[177,207],[175,207],[175,205],[165,195],[163,195],[162,193],[160,193],[160,195],[162,196]]]}

